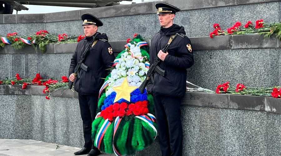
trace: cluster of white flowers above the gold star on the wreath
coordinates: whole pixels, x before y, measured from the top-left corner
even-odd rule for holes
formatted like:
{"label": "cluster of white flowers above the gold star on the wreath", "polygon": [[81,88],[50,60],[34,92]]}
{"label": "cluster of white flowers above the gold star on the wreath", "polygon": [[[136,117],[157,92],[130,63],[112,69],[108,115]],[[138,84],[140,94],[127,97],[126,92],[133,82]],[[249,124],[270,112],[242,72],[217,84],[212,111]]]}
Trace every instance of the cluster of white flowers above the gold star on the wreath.
{"label": "cluster of white flowers above the gold star on the wreath", "polygon": [[141,56],[139,46],[132,44],[130,50],[126,50],[121,54],[121,58],[116,59],[116,69],[111,71],[111,77],[108,78],[108,86],[106,96],[110,95],[114,90],[112,87],[121,85],[125,77],[131,86],[140,86],[146,78],[148,68],[145,67],[146,56]]}

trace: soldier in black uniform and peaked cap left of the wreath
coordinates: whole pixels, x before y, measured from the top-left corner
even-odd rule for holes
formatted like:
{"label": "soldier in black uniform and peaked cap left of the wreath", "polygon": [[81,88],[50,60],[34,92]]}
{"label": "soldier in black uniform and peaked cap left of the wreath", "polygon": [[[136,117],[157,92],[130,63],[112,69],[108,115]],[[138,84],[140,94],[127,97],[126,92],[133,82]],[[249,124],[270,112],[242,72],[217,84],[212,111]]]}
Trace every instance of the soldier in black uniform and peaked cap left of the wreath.
{"label": "soldier in black uniform and peaked cap left of the wreath", "polygon": [[[86,38],[78,42],[76,50],[71,58],[69,67],[69,80],[74,82],[74,89],[78,92],[78,100],[80,105],[81,118],[83,121],[84,147],[75,152],[75,155],[88,154],[88,156],[96,156],[101,152],[97,149],[91,139],[92,122],[96,116],[98,104],[99,90],[104,79],[109,73],[112,62],[115,57],[112,54],[111,45],[108,43],[106,34],[97,32],[98,27],[103,23],[91,14],[83,14],[81,16]],[[88,69],[81,70],[80,77],[74,76],[74,69],[83,51],[93,41],[96,36],[94,46],[91,47],[85,61],[83,62]]]}

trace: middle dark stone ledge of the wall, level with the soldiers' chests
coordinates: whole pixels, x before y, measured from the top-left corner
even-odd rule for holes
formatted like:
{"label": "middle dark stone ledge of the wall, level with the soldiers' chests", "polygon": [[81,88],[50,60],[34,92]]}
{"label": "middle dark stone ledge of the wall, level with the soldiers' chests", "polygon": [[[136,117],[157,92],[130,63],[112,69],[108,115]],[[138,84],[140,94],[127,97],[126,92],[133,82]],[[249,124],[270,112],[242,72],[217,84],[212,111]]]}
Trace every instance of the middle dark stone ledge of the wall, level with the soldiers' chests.
{"label": "middle dark stone ledge of the wall, level with the soldiers' chests", "polygon": [[[151,40],[145,40],[149,45]],[[259,34],[233,35],[210,37],[190,37],[193,50],[217,50],[217,49],[249,49],[249,48],[279,48],[280,41],[275,37],[264,39]],[[126,41],[109,41],[115,53],[124,50]],[[46,53],[73,53],[77,43],[61,43],[47,45]],[[39,48],[37,48],[39,49]],[[0,49],[0,54],[36,54],[42,53],[40,50],[33,50],[27,46],[22,50],[14,50],[10,45]]]}

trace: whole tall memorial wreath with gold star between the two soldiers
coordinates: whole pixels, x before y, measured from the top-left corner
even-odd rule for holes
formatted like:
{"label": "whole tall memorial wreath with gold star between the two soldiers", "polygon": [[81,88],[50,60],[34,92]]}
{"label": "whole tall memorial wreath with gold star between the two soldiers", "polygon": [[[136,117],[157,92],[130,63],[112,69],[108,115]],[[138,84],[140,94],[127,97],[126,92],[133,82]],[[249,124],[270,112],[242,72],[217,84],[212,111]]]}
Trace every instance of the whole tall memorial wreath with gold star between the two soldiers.
{"label": "whole tall memorial wreath with gold star between the two soldiers", "polygon": [[138,89],[149,68],[148,44],[138,34],[127,43],[99,91],[92,123],[94,145],[117,156],[135,154],[157,136],[153,97]]}

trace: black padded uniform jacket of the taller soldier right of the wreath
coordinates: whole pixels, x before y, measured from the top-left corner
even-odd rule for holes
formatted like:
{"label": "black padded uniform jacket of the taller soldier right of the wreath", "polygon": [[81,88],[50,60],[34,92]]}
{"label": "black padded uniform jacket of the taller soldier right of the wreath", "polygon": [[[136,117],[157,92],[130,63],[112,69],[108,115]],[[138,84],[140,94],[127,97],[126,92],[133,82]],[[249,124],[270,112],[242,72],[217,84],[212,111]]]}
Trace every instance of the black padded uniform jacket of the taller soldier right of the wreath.
{"label": "black padded uniform jacket of the taller soldier right of the wreath", "polygon": [[186,69],[193,65],[194,59],[192,49],[188,49],[189,45],[191,48],[191,42],[190,39],[185,36],[184,27],[173,24],[169,28],[161,28],[161,30],[153,36],[149,53],[150,65],[155,60],[158,52],[168,43],[170,36],[176,33],[182,33],[184,35],[177,36],[175,41],[170,44],[170,48],[167,50],[169,54],[159,65],[161,69],[165,70],[165,76],[161,76],[155,72],[153,76],[154,84],[148,84],[148,92],[177,97],[183,97],[185,95]]}

